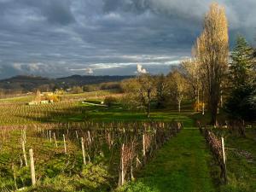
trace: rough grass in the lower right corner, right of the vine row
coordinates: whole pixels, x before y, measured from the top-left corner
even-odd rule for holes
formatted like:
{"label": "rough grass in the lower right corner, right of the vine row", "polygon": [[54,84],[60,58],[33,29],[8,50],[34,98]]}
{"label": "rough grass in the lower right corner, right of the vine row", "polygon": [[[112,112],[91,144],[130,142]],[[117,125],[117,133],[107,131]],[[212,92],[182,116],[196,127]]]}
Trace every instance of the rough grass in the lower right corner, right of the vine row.
{"label": "rough grass in the lower right corner, right of the vine row", "polygon": [[224,136],[227,153],[227,185],[221,191],[256,191],[256,130],[247,129],[247,137],[239,137],[230,131],[216,131]]}

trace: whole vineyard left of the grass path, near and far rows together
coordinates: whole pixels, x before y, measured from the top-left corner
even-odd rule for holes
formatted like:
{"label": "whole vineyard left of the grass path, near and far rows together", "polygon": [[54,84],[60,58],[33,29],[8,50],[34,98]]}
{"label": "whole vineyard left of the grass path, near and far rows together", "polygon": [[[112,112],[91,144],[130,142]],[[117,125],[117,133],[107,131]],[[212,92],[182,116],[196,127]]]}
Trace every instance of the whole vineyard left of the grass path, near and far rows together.
{"label": "whole vineyard left of the grass path, near and far rows together", "polygon": [[[38,106],[3,103],[1,191],[29,189],[35,183],[38,189],[50,188],[49,181],[64,177],[77,181],[69,183],[67,190],[115,189],[133,180],[134,172],[150,160],[155,150],[182,129],[182,124],[175,121],[58,122],[83,111],[79,102],[65,100]],[[31,163],[36,167],[34,173]],[[90,181],[87,174],[95,175],[96,181]],[[89,185],[85,187],[85,183]]]}

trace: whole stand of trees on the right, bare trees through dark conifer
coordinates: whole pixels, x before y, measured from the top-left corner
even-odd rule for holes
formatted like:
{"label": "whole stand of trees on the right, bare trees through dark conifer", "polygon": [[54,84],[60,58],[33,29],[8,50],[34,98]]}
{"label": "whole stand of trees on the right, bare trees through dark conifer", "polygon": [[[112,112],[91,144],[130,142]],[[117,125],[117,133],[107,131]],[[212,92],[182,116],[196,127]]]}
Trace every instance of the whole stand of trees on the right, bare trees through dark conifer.
{"label": "whole stand of trees on the right, bare trees through dark conifer", "polygon": [[195,110],[205,108],[217,124],[219,109],[230,118],[256,119],[256,50],[241,35],[230,51],[228,20],[223,7],[212,3],[205,15],[203,30],[192,47],[192,57],[182,61],[166,76],[139,74],[125,79],[121,87],[129,105],[147,109],[154,103],[164,108],[176,102],[180,112],[185,99],[194,101]]}

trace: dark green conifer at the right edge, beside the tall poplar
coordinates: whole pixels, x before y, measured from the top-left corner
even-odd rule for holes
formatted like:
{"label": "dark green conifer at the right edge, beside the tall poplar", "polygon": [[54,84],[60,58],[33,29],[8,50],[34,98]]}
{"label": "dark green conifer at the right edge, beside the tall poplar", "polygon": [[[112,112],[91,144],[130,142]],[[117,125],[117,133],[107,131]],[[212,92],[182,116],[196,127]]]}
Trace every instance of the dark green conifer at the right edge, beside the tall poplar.
{"label": "dark green conifer at the right edge, beside the tall poplar", "polygon": [[232,118],[256,119],[255,57],[245,38],[238,36],[230,62],[231,91],[225,110]]}

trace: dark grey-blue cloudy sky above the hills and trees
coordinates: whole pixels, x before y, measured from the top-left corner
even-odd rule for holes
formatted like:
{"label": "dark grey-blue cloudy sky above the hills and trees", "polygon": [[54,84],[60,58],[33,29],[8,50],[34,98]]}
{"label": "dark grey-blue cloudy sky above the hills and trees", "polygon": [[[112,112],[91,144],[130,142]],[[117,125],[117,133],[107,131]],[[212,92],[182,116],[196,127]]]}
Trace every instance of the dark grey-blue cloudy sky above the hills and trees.
{"label": "dark grey-blue cloudy sky above the hills and trees", "polygon": [[[230,47],[256,37],[255,0],[219,0]],[[207,0],[0,0],[0,79],[168,73],[189,58]]]}

